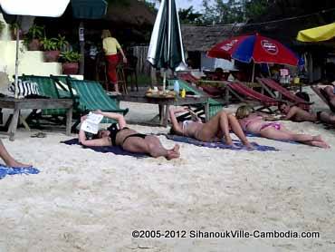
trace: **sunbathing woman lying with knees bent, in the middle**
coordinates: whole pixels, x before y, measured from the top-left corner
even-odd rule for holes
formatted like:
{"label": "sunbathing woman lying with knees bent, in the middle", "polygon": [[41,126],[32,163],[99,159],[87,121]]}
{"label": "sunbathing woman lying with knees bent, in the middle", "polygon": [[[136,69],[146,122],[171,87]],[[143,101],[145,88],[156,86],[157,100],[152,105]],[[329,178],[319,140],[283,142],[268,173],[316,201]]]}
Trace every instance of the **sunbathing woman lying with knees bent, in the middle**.
{"label": "sunbathing woman lying with knees bent, in the middle", "polygon": [[229,129],[231,128],[248,149],[253,149],[234,115],[220,111],[206,123],[203,123],[199,119],[178,122],[176,113],[186,111],[191,112],[191,114],[193,113],[193,111],[187,108],[170,108],[169,114],[172,122],[171,134],[187,136],[198,141],[219,141],[224,138],[226,144],[233,145],[232,138],[229,134]]}

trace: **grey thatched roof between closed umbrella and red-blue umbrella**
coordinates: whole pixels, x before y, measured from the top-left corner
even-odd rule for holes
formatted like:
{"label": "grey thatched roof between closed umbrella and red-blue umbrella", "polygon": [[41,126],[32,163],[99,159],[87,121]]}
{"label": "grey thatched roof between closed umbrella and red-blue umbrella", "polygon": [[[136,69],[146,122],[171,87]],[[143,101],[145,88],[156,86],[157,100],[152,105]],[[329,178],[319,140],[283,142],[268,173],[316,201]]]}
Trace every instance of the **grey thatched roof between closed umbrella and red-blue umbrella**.
{"label": "grey thatched roof between closed umbrella and red-blue umbrella", "polygon": [[235,35],[243,24],[181,25],[183,43],[187,51],[206,52],[215,44]]}

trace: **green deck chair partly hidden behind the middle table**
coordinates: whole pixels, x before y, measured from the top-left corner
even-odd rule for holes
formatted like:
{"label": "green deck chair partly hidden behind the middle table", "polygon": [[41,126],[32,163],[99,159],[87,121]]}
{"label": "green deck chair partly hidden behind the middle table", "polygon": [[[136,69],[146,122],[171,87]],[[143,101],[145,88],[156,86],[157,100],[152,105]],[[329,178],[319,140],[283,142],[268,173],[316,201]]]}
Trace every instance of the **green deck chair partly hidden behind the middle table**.
{"label": "green deck chair partly hidden behind the middle table", "polygon": [[[173,87],[173,83],[176,80],[168,80],[168,86],[170,86],[171,88]],[[179,89],[185,89],[186,92],[194,92],[196,95],[200,95],[200,96],[206,96],[208,97],[208,95],[206,94],[206,92],[203,92],[201,90],[199,90],[196,86],[193,86],[191,84],[189,84],[188,82],[184,81],[184,80],[177,80],[179,82]],[[223,104],[221,102],[217,102],[215,99],[213,98],[208,98],[208,102],[209,102],[209,118],[212,118],[213,116],[215,116],[215,114],[218,111],[222,111],[223,108]],[[200,115],[205,114],[204,108],[196,108],[195,112],[200,112]]]}

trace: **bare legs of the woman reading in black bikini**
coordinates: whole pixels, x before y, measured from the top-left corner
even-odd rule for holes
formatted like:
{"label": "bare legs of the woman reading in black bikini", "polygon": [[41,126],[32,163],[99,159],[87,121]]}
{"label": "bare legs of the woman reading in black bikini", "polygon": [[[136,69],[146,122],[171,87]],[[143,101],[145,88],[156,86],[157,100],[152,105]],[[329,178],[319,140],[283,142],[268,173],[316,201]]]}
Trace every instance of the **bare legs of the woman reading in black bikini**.
{"label": "bare legs of the woman reading in black bikini", "polygon": [[146,153],[154,158],[165,157],[167,160],[177,159],[180,156],[179,145],[176,144],[174,148],[167,150],[156,136],[146,136],[145,139],[129,137],[122,144],[122,148],[134,153]]}

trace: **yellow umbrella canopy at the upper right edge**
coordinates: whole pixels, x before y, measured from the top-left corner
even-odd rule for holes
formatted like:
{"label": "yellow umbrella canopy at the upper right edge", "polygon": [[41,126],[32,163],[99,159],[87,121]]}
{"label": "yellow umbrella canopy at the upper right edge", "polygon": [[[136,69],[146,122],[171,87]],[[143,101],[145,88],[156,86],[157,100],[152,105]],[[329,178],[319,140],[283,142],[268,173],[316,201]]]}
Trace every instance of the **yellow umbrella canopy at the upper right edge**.
{"label": "yellow umbrella canopy at the upper right edge", "polygon": [[335,37],[335,23],[302,30],[297,35],[297,40],[302,42],[319,42]]}

